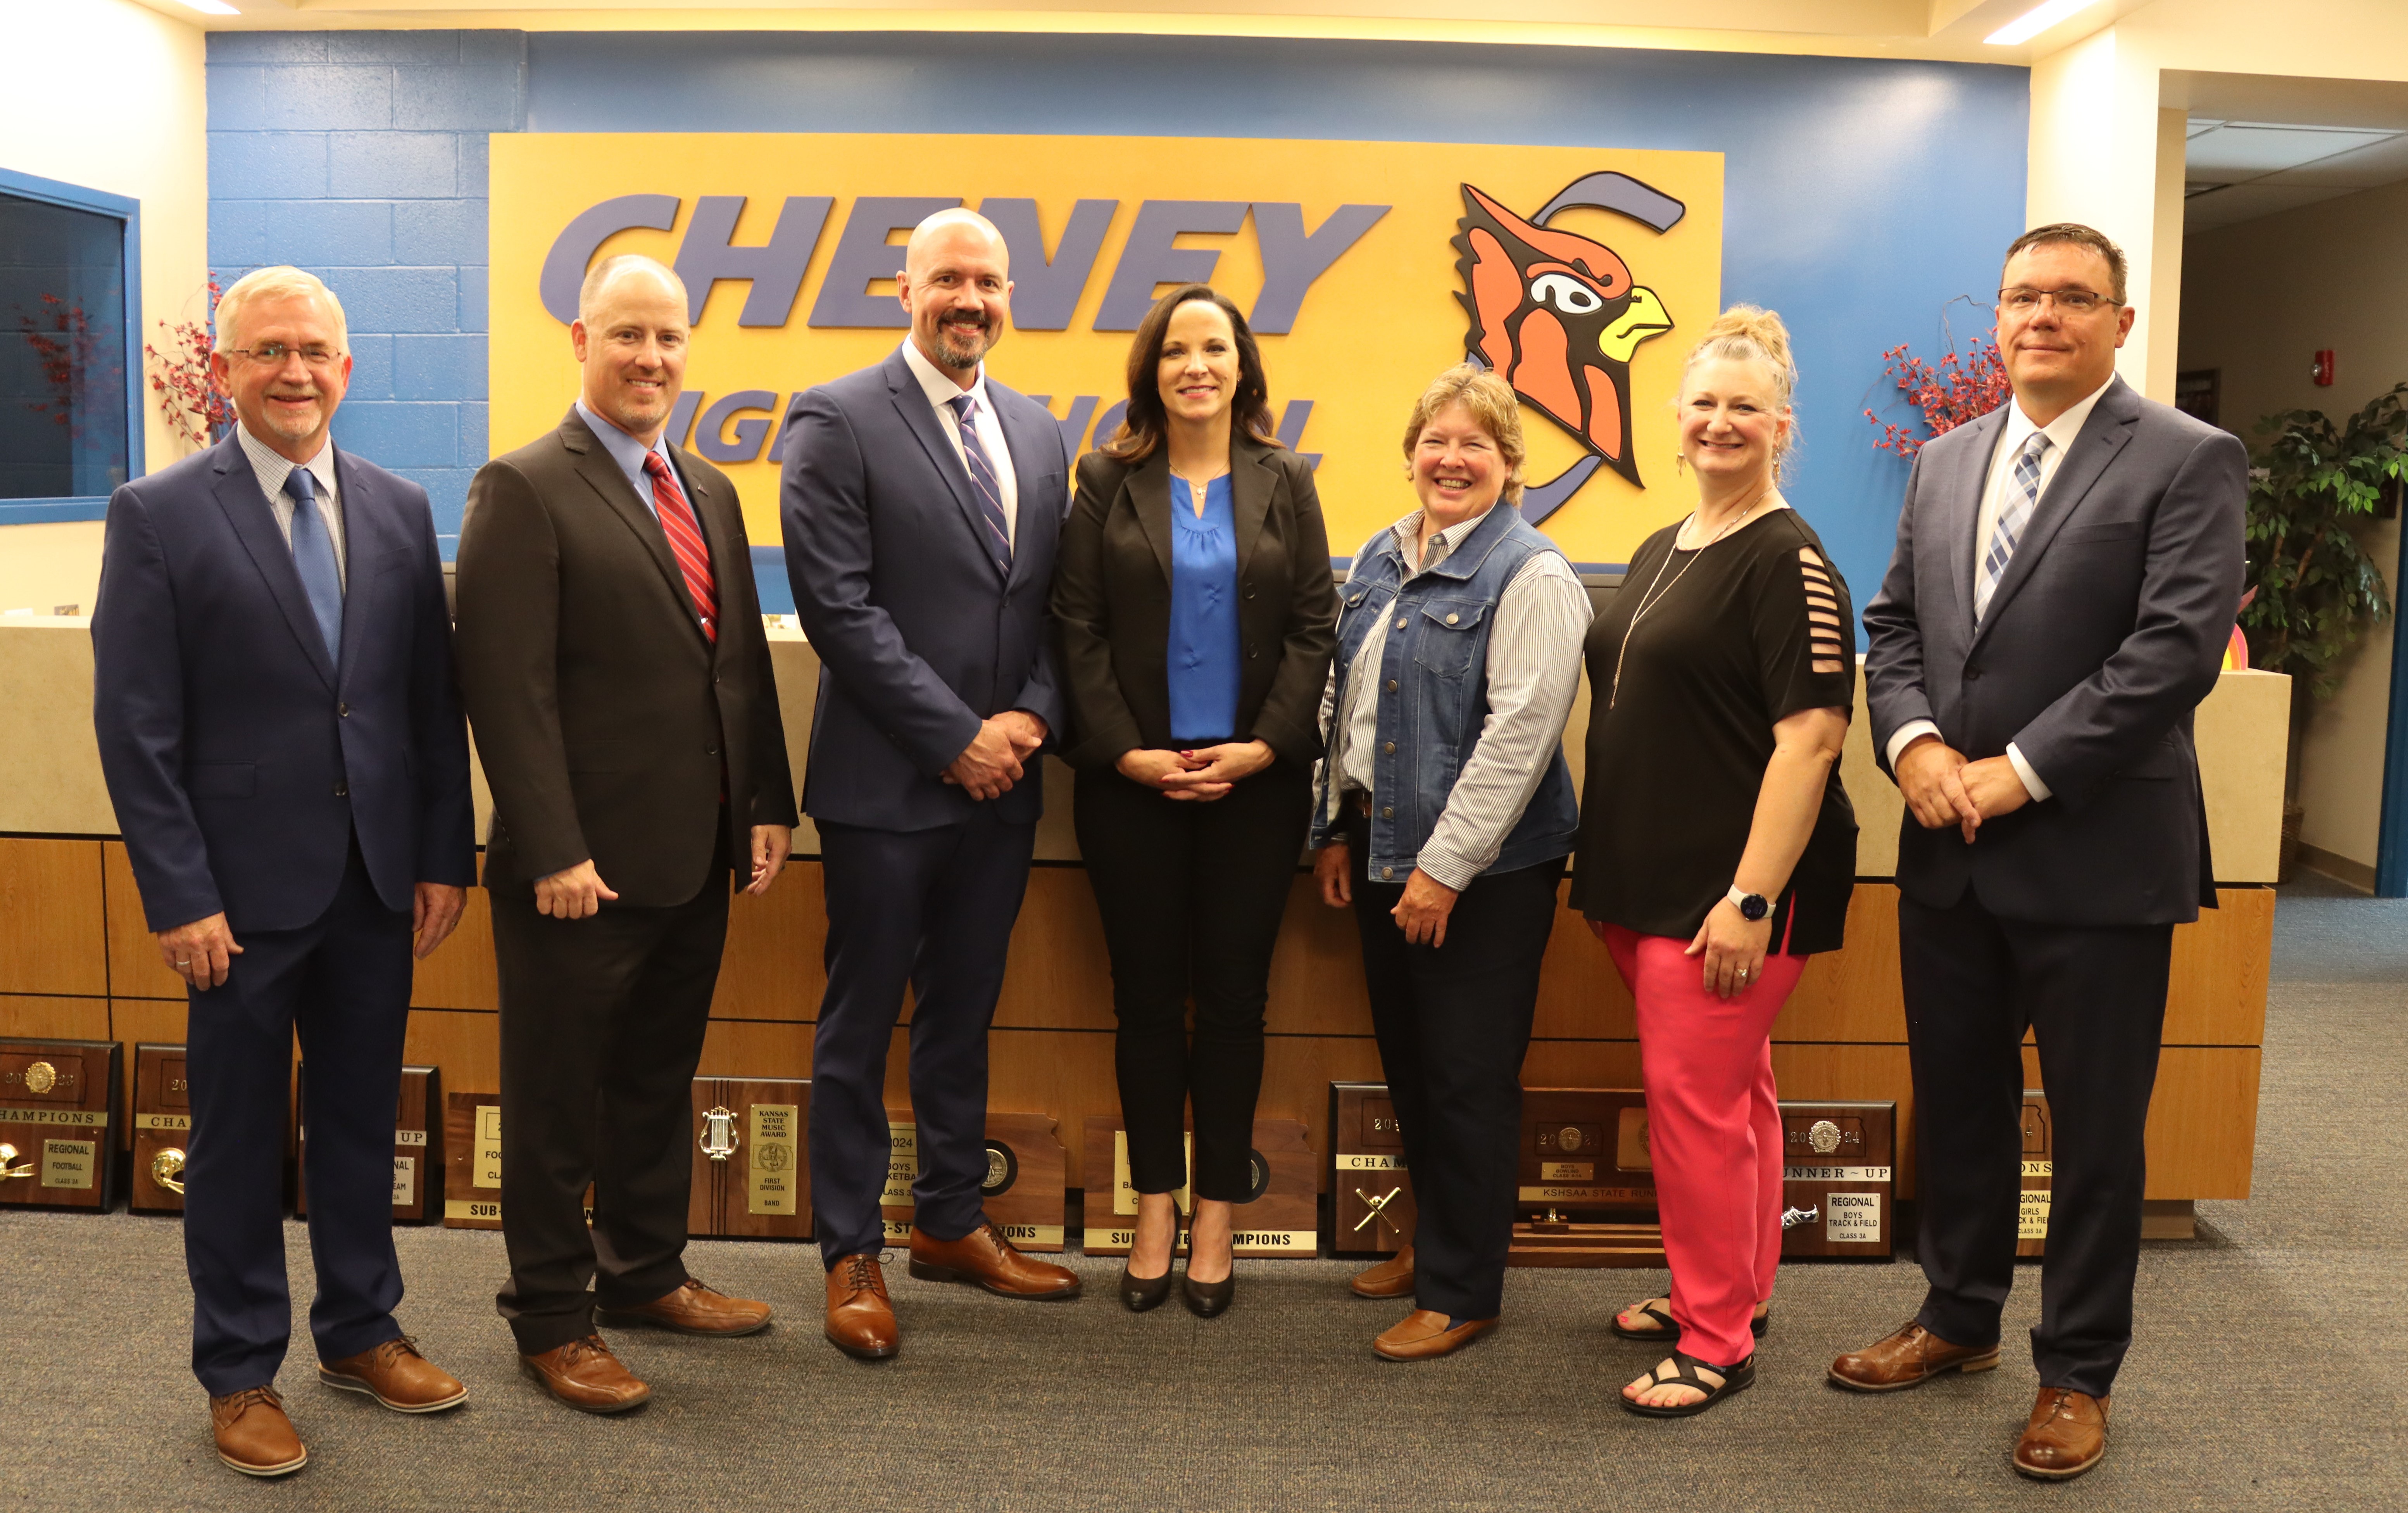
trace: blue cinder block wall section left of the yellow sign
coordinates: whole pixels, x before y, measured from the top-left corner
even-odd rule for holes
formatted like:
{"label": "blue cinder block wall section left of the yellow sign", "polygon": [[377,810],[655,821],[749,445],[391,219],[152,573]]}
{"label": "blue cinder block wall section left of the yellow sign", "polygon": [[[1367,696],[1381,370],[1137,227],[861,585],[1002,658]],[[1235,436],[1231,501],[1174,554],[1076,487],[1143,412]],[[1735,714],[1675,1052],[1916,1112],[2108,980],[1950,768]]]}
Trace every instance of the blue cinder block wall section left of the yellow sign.
{"label": "blue cinder block wall section left of the yellow sign", "polygon": [[209,34],[209,267],[335,289],[335,441],[426,487],[445,557],[486,458],[486,133],[525,128],[523,31]]}

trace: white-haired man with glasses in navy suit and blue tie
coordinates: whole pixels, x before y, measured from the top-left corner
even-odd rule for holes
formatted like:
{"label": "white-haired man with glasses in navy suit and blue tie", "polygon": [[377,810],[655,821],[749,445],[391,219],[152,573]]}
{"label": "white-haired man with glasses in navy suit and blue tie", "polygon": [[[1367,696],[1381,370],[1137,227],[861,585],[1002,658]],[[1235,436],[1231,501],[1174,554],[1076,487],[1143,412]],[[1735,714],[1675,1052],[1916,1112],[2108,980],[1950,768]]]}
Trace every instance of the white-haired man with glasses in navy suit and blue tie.
{"label": "white-haired man with glasses in navy suit and blue tie", "polygon": [[308,1460],[275,1388],[296,1031],[318,1378],[400,1412],[467,1397],[393,1318],[412,942],[450,935],[474,870],[467,732],[426,489],[332,441],[344,345],[299,267],[226,289],[209,371],[241,419],[116,491],[92,617],[101,771],[190,995],[193,1373],[253,1477]]}

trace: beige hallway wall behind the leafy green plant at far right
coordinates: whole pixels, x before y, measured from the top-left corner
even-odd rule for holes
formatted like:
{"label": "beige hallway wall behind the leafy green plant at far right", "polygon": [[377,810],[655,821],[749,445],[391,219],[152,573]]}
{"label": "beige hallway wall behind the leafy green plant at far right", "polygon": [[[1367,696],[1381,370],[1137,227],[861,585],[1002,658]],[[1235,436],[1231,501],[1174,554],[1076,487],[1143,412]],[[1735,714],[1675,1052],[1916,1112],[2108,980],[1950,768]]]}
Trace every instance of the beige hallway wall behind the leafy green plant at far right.
{"label": "beige hallway wall behind the leafy green plant at far right", "polygon": [[[2321,410],[2341,422],[2408,378],[2408,183],[2324,200],[2186,241],[2182,366],[2220,371],[2220,419],[2259,443],[2278,410]],[[2333,388],[2309,381],[2319,347],[2336,357]],[[2360,544],[2398,595],[2401,523],[2377,520]],[[2374,865],[2391,708],[2391,626],[2374,626],[2348,658],[2341,691],[2321,703],[2300,752],[2300,838]]]}

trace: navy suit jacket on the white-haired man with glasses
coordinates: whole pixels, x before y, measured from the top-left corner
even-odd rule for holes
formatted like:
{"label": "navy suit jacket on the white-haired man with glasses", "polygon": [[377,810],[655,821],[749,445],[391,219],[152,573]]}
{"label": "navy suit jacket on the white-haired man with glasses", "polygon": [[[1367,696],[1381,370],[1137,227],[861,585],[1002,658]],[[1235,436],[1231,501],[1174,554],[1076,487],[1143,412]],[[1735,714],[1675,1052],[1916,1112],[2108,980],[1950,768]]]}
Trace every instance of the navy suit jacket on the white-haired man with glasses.
{"label": "navy suit jacket on the white-haired man with glasses", "polygon": [[229,436],[108,499],[92,723],[152,930],[296,930],[352,834],[388,908],[474,882],[467,728],[426,489],[335,453],[342,665]]}

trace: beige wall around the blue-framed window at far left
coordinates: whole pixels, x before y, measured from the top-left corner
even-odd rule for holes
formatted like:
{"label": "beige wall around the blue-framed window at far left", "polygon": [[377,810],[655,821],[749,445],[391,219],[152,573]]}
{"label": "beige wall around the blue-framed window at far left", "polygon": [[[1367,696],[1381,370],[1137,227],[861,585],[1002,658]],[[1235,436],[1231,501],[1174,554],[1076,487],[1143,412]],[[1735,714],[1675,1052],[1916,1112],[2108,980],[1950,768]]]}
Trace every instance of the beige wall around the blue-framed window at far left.
{"label": "beige wall around the blue-framed window at far left", "polygon": [[[195,17],[197,19],[197,17]],[[7,7],[22,63],[0,89],[0,169],[142,202],[142,335],[202,313],[209,277],[209,106],[202,31],[130,0]],[[183,455],[159,422],[152,472]],[[92,607],[101,528],[0,525],[0,610]]]}

